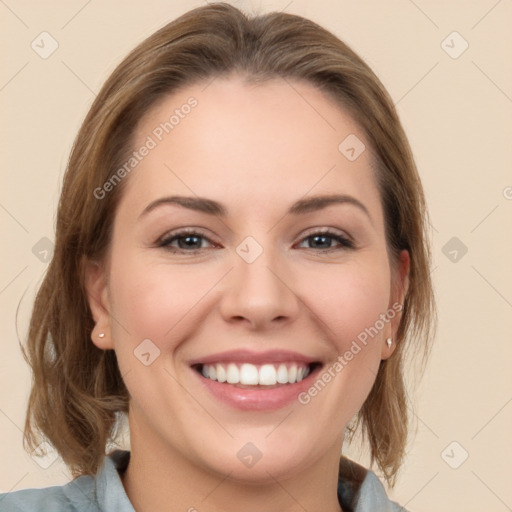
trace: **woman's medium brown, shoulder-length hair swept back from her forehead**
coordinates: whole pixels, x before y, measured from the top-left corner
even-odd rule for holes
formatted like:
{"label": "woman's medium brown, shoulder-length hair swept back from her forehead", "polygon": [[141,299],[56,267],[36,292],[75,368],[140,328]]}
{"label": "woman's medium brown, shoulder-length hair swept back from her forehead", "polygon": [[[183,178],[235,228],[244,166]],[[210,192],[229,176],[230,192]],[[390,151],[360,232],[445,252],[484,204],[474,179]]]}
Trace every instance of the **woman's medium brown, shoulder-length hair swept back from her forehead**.
{"label": "woman's medium brown, shoulder-length hair swept back from her forehead", "polygon": [[[219,3],[187,12],[134,49],[80,128],[60,196],[54,255],[25,349],[33,370],[25,446],[33,449],[45,438],[74,475],[97,472],[129,397],[114,351],[91,342],[84,271],[86,261],[101,260],[108,250],[127,179],[101,200],[93,192],[126,161],[134,129],[151,106],[179,88],[232,73],[313,84],[349,110],[370,143],[391,264],[402,249],[411,259],[397,346],[381,362],[356,427],[369,442],[371,463],[394,485],[408,430],[404,356],[412,348],[426,359],[435,317],[427,212],[409,144],[384,86],[332,33],[299,16],[247,17]],[[348,431],[352,437],[355,428]]]}

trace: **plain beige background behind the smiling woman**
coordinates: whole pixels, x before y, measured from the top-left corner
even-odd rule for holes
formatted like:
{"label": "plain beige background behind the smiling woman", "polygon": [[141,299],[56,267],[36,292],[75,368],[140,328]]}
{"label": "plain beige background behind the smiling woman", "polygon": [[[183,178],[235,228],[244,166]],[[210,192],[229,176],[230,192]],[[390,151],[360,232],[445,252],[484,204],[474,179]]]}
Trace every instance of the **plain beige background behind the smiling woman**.
{"label": "plain beige background behind the smiling woman", "polygon": [[[434,228],[439,330],[425,377],[411,392],[417,434],[391,495],[417,512],[511,510],[512,2],[232,3],[249,12],[304,15],[345,40],[390,91],[414,150]],[[49,242],[41,239],[54,239],[73,138],[126,53],[201,4],[0,2],[0,491],[68,479],[59,460],[39,461],[23,451],[30,374],[18,336],[26,333],[46,267]],[[31,48],[43,31],[59,45],[47,59]],[[453,31],[463,39],[446,39]],[[455,55],[464,41],[468,49],[452,58],[447,51]],[[450,259],[454,247],[445,247],[452,237],[467,247],[457,261]]]}

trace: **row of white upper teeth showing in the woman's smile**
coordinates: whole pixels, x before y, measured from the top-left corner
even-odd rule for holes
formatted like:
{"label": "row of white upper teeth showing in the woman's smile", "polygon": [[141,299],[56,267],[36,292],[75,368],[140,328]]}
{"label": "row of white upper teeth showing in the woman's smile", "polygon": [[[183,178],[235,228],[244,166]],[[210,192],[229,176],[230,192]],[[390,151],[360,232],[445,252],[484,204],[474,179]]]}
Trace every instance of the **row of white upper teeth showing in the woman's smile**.
{"label": "row of white upper teeth showing in the woman's smile", "polygon": [[247,386],[273,386],[275,384],[294,384],[300,382],[309,375],[309,366],[303,363],[281,363],[279,366],[263,364],[257,366],[243,363],[238,366],[235,363],[215,365],[205,364],[201,369],[203,377],[227,382],[228,384],[243,384]]}

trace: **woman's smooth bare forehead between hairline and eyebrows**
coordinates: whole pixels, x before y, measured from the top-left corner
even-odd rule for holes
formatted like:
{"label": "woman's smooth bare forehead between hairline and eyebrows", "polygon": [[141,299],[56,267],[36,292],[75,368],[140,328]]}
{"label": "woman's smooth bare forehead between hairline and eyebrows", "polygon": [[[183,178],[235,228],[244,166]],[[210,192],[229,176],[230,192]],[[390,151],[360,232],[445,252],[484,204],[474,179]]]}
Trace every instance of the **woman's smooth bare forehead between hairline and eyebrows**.
{"label": "woman's smooth bare forehead between hairline and eyebrows", "polygon": [[[133,149],[150,149],[121,206],[140,212],[159,196],[186,194],[275,215],[301,196],[340,192],[378,209],[365,139],[347,111],[308,83],[195,84],[165,97],[137,126]],[[356,156],[367,149],[347,158],[347,145]]]}

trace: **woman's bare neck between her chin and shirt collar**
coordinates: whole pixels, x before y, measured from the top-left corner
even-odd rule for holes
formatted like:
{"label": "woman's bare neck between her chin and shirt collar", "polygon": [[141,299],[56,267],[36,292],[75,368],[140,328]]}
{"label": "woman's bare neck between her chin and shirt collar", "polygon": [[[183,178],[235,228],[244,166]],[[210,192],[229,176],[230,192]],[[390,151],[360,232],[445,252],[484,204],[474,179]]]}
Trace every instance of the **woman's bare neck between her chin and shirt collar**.
{"label": "woman's bare neck between her chin and shirt collar", "polygon": [[158,436],[138,435],[130,421],[130,463],[122,476],[137,512],[342,512],[337,498],[341,441],[312,465],[294,468],[286,478],[237,480],[195,464]]}

